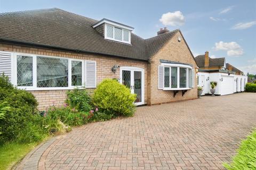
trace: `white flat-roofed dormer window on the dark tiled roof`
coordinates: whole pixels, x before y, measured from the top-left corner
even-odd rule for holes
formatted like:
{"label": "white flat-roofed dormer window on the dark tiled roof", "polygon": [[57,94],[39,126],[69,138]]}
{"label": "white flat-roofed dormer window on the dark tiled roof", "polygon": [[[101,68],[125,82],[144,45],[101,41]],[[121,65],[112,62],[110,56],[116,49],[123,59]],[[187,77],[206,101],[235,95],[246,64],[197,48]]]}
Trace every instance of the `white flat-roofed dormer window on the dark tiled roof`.
{"label": "white flat-roofed dormer window on the dark tiled roof", "polygon": [[131,44],[132,27],[107,19],[102,19],[97,24],[93,25],[93,28],[97,29],[100,25],[103,25],[103,36],[105,39]]}

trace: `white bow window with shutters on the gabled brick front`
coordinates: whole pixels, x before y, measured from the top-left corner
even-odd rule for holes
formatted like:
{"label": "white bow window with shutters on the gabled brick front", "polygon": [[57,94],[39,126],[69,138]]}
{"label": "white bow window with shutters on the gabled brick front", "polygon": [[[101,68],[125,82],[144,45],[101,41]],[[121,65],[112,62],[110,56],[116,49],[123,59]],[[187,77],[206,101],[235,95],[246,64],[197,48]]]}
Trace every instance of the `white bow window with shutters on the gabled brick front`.
{"label": "white bow window with shutters on the gabled brick front", "polygon": [[193,81],[194,74],[192,67],[189,65],[173,63],[162,63],[162,65],[159,65],[158,89],[186,90],[193,88]]}

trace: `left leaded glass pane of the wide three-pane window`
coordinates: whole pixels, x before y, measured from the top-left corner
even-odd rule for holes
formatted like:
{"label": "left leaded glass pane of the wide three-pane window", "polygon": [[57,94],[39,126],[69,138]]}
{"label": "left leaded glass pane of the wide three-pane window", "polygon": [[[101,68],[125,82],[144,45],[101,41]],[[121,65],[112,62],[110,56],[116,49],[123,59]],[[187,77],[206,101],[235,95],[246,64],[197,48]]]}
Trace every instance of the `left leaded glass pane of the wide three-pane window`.
{"label": "left leaded glass pane of the wide three-pane window", "polygon": [[17,56],[17,86],[33,86],[33,57]]}

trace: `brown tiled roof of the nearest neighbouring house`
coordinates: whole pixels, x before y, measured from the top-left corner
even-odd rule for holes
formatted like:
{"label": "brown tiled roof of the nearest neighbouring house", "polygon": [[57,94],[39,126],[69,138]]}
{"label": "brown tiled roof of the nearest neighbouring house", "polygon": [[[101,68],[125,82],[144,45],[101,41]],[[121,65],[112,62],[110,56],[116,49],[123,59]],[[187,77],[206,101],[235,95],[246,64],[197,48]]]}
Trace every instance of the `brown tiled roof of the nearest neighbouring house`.
{"label": "brown tiled roof of the nearest neighbouring house", "polygon": [[[204,55],[198,55],[195,57],[195,61],[198,67],[204,67]],[[224,66],[225,57],[211,58],[209,57],[209,66]]]}

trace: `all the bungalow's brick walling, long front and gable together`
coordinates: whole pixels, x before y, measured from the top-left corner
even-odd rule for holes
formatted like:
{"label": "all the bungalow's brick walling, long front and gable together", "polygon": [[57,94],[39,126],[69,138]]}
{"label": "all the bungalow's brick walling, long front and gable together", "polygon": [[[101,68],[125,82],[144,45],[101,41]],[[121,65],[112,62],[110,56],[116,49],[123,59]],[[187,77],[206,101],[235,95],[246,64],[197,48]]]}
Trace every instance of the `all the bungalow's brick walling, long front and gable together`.
{"label": "all the bungalow's brick walling, long front and gable together", "polygon": [[[113,67],[115,64],[118,64],[120,66],[140,67],[142,69],[145,69],[145,103],[151,105],[167,103],[170,101],[197,98],[197,78],[195,78],[195,88],[188,90],[184,96],[182,96],[181,91],[179,91],[175,98],[173,98],[173,91],[158,90],[158,65],[161,64],[159,62],[160,59],[189,63],[193,65],[193,69],[195,69],[196,67],[194,58],[190,54],[185,41],[182,38],[182,40],[178,42],[178,36],[182,37],[180,32],[177,32],[174,38],[169,40],[161,50],[159,50],[153,57],[151,57],[149,62],[151,64],[143,61],[127,60],[116,57],[108,57],[104,55],[71,53],[61,50],[23,47],[7,44],[0,44],[0,50],[7,52],[29,53],[96,61],[97,84],[99,84],[103,79],[106,78],[120,77],[120,69],[118,69],[116,73],[113,73],[111,71],[111,67]],[[92,93],[94,89],[87,90]],[[67,90],[35,90],[30,92],[35,95],[36,99],[39,102],[38,109],[44,110],[51,105],[63,105],[66,99],[66,91]]]}

